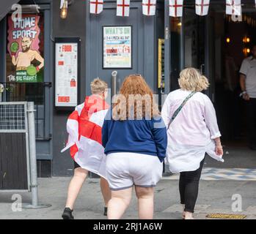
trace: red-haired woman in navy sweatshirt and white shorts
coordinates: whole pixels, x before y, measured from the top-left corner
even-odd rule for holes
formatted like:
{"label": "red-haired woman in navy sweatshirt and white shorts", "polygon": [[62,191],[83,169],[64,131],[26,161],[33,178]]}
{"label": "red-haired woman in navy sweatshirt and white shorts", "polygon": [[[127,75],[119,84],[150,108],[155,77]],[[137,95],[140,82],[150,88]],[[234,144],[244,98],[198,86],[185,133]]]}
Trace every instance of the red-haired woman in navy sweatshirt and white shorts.
{"label": "red-haired woman in navy sweatshirt and white shorts", "polygon": [[[111,113],[111,115],[110,115]],[[161,179],[167,130],[153,92],[141,75],[125,78],[104,121],[102,143],[111,189],[108,219],[120,219],[135,187],[139,219],[153,219],[154,187]]]}

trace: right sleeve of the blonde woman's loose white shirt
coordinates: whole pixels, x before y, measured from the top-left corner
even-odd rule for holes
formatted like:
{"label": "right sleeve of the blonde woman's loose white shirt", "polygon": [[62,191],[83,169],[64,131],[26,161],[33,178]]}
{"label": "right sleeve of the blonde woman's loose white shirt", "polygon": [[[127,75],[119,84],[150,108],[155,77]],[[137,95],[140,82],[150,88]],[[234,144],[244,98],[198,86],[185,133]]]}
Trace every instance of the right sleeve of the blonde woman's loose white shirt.
{"label": "right sleeve of the blonde woman's loose white shirt", "polygon": [[216,111],[213,107],[213,103],[211,99],[207,97],[205,102],[205,110],[204,110],[205,123],[208,129],[211,132],[211,139],[216,139],[217,137],[221,137],[221,133],[219,132],[219,127],[216,118]]}

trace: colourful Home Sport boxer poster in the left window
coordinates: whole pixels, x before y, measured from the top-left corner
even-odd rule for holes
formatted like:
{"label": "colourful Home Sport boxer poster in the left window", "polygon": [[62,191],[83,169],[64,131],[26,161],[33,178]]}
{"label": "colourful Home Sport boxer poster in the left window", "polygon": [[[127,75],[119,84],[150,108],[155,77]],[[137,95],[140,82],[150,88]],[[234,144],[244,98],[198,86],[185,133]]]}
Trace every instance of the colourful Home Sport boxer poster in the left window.
{"label": "colourful Home Sport boxer poster in the left window", "polygon": [[43,82],[44,59],[40,54],[40,15],[8,17],[8,45],[10,61],[7,64],[7,81]]}

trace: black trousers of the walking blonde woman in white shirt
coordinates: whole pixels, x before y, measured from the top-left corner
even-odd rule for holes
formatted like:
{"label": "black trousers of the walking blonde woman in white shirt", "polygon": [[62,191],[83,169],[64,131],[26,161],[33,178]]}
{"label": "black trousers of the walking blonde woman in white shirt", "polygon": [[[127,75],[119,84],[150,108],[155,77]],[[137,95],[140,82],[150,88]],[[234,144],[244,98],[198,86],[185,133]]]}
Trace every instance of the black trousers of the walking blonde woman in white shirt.
{"label": "black trousers of the walking blonde woman in white shirt", "polygon": [[197,170],[180,173],[180,203],[185,205],[184,211],[194,213],[204,162],[205,159],[202,160]]}

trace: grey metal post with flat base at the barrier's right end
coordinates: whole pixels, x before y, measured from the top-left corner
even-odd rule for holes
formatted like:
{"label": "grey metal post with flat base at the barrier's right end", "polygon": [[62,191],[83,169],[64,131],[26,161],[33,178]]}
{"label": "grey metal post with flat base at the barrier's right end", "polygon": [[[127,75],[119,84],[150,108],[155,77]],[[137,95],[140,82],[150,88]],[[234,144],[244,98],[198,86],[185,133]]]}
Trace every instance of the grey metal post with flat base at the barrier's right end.
{"label": "grey metal post with flat base at the barrier's right end", "polygon": [[38,204],[37,191],[37,152],[34,128],[34,102],[28,102],[27,114],[29,124],[29,162],[30,162],[30,178],[32,191],[32,204],[23,204],[23,208],[47,208],[50,204]]}

